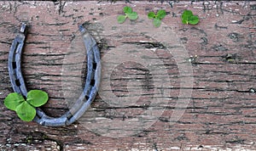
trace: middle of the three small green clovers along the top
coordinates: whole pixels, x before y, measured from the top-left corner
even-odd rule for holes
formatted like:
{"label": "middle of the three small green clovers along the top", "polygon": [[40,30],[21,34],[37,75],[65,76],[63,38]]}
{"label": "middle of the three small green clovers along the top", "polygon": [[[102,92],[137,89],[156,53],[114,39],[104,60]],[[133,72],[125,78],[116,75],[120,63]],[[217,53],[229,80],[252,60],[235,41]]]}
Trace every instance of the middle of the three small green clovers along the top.
{"label": "middle of the three small green clovers along the top", "polygon": [[148,19],[153,19],[153,24],[155,27],[159,27],[161,25],[161,20],[166,17],[166,10],[160,9],[156,14],[154,12],[148,13]]}

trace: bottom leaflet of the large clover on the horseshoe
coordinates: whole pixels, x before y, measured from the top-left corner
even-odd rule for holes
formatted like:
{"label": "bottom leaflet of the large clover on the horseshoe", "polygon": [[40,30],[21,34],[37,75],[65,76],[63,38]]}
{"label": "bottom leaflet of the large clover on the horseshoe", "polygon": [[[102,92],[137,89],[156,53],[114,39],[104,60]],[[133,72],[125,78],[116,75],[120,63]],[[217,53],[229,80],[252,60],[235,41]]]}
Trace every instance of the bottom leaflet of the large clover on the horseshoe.
{"label": "bottom leaflet of the large clover on the horseshoe", "polygon": [[36,115],[36,109],[24,101],[16,108],[16,113],[21,120],[32,121]]}

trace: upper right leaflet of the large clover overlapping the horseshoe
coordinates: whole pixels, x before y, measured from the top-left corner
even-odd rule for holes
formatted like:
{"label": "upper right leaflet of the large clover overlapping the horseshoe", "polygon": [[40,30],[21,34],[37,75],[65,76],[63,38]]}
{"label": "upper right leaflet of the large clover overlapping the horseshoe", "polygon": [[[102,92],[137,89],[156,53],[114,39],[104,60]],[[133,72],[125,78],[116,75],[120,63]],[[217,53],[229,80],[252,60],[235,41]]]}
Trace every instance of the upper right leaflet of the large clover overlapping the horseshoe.
{"label": "upper right leaflet of the large clover overlapping the horseshoe", "polygon": [[48,101],[48,94],[41,90],[31,90],[27,92],[26,101],[34,107],[39,107]]}

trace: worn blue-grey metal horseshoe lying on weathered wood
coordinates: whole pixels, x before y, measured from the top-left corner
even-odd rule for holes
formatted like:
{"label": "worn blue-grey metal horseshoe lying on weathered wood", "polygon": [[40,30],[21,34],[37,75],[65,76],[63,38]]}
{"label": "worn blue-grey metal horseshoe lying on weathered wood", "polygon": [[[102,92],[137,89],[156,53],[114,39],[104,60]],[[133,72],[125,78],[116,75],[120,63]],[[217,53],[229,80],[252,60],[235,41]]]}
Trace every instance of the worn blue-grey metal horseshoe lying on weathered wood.
{"label": "worn blue-grey metal horseshoe lying on weathered wood", "polygon": [[[20,33],[15,37],[9,51],[8,70],[11,85],[14,92],[18,92],[26,97],[27,90],[25,81],[21,73],[21,53],[26,40],[26,24],[22,23]],[[101,79],[101,59],[100,51],[96,45],[95,39],[83,25],[79,25],[79,31],[83,36],[84,45],[87,53],[87,76],[85,78],[84,90],[81,92],[76,103],[61,117],[50,117],[44,111],[37,108],[37,115],[33,119],[42,126],[69,126],[75,120],[78,120],[84,112],[90,107],[90,103],[95,99],[96,92],[99,89]]]}

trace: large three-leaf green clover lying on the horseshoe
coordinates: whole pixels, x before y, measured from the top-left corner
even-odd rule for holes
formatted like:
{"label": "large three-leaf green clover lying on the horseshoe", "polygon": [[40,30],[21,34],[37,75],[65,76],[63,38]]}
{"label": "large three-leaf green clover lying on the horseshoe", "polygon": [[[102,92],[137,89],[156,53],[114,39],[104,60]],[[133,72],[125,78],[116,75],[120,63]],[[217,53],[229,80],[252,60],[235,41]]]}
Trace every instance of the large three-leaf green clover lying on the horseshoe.
{"label": "large three-leaf green clover lying on the horseshoe", "polygon": [[36,107],[44,105],[48,101],[48,94],[41,90],[27,92],[26,100],[17,92],[9,93],[4,99],[4,105],[14,110],[24,121],[32,121],[36,116]]}

